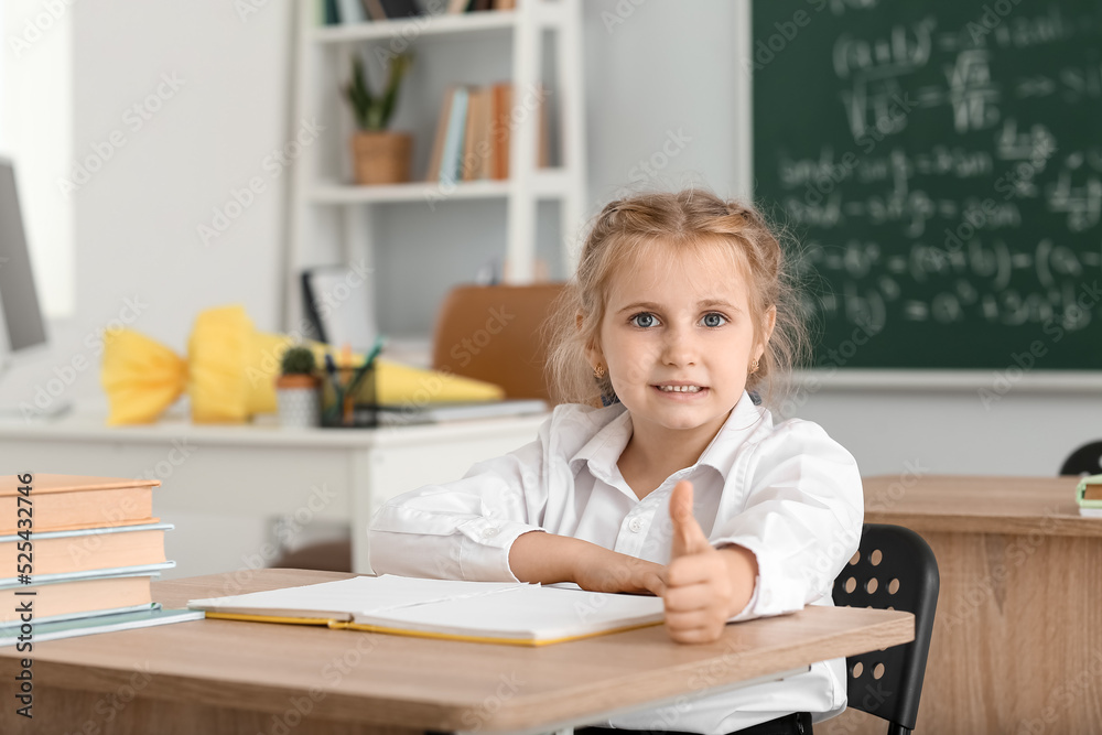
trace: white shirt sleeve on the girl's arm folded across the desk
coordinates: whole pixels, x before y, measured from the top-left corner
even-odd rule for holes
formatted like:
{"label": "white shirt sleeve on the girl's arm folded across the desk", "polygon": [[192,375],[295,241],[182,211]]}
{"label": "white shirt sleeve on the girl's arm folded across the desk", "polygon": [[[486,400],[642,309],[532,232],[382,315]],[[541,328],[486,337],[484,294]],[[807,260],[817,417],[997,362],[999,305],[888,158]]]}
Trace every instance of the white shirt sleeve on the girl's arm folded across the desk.
{"label": "white shirt sleeve on the girl's arm folded across the desk", "polygon": [[462,479],[389,499],[367,532],[375,573],[519,582],[509,568],[509,549],[522,533],[544,530],[551,421],[534,441],[474,464]]}

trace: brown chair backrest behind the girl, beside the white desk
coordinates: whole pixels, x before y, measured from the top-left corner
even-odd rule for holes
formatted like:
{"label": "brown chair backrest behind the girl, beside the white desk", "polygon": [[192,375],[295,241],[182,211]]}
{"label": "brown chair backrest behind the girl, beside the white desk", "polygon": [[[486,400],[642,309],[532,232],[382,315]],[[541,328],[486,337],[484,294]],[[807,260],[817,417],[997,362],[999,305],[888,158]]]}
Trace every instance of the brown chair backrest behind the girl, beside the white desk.
{"label": "brown chair backrest behind the girl, beside the white desk", "polygon": [[543,324],[563,283],[461,285],[440,307],[432,367],[486,380],[506,398],[550,401]]}

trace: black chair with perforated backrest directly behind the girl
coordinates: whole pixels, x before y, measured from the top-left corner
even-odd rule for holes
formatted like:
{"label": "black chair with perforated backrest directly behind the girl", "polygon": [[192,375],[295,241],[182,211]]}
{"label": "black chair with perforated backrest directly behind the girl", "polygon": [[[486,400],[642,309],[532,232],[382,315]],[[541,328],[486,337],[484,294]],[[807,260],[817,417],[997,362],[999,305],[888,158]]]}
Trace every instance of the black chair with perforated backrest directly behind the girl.
{"label": "black chair with perforated backrest directly behind the girl", "polygon": [[834,604],[915,615],[915,640],[845,660],[850,706],[888,721],[888,735],[915,729],[941,577],[922,537],[901,526],[865,523],[857,553],[834,580]]}

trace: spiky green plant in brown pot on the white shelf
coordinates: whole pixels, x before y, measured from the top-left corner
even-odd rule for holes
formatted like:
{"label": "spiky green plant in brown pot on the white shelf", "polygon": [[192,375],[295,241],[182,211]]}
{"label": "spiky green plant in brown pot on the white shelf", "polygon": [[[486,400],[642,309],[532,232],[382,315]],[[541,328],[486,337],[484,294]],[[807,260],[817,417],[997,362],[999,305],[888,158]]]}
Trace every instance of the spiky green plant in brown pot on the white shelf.
{"label": "spiky green plant in brown pot on the white shelf", "polygon": [[395,114],[398,87],[413,57],[409,53],[392,56],[387,88],[372,95],[364,71],[364,60],[353,57],[352,80],[344,87],[358,130],[352,138],[353,164],[359,184],[400,184],[410,180],[413,137],[387,130]]}

